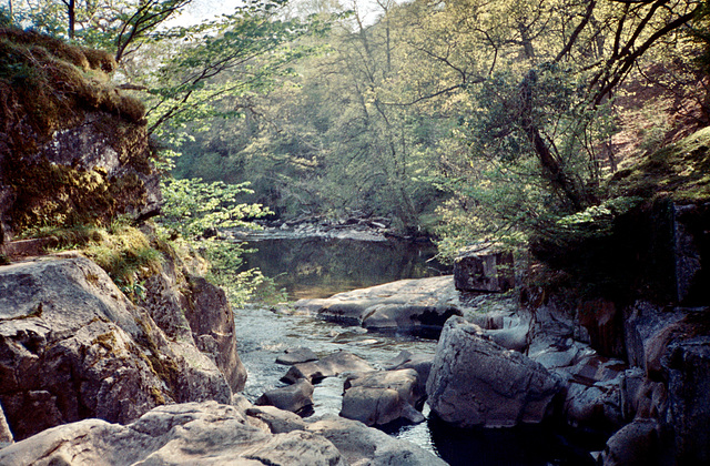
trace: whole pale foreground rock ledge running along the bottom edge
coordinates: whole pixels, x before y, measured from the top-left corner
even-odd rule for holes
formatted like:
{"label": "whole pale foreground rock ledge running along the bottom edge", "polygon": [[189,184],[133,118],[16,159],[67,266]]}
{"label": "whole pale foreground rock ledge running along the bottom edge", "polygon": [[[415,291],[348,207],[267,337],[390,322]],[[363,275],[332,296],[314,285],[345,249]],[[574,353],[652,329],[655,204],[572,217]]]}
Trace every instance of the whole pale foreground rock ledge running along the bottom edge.
{"label": "whole pale foreground rock ledge running along the bottom edge", "polygon": [[85,419],[0,449],[7,465],[445,465],[428,452],[361,423],[304,422],[270,407],[215,402],[156,407],[128,424]]}

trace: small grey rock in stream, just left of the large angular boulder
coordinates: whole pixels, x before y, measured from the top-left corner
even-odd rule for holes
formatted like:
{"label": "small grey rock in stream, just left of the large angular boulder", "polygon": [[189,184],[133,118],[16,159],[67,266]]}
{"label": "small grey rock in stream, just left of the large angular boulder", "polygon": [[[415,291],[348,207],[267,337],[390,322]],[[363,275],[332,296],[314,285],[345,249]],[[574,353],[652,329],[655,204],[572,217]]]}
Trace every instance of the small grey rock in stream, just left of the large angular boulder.
{"label": "small grey rock in stream, just left of the large angular boulder", "polygon": [[423,422],[416,409],[424,401],[417,393],[418,374],[414,369],[375,371],[345,381],[341,416],[365,425],[384,425],[397,419]]}

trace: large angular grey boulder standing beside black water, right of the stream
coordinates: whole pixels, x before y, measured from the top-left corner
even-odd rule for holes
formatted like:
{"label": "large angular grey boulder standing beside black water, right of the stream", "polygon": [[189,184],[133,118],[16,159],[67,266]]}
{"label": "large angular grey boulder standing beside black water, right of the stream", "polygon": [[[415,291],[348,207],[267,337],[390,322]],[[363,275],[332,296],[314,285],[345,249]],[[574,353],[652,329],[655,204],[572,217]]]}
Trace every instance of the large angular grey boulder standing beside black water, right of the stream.
{"label": "large angular grey boulder standing beside black water, right of the stream", "polygon": [[542,365],[460,317],[444,326],[426,385],[432,411],[459,427],[539,423],[560,388],[560,378]]}

